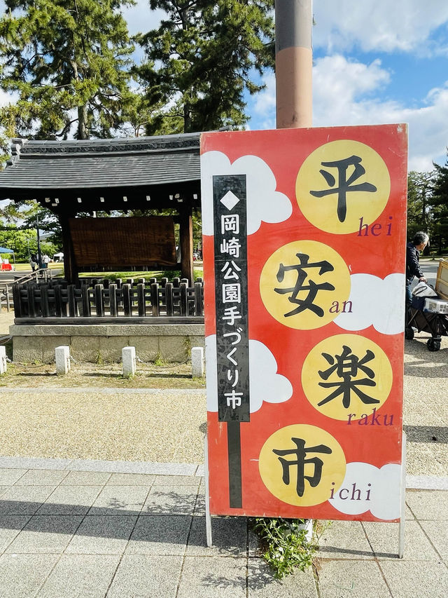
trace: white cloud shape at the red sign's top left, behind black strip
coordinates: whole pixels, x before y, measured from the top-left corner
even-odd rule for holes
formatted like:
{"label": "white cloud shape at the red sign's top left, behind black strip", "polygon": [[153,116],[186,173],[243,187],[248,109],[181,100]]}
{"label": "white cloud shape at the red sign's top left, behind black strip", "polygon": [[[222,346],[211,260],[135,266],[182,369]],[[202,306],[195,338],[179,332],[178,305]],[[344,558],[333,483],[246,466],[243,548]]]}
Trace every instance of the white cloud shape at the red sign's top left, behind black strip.
{"label": "white cloud shape at the red sign's top left, behind black strip", "polygon": [[258,231],[262,222],[283,222],[293,213],[288,196],[276,191],[276,179],[258,156],[241,156],[230,164],[221,151],[201,156],[202,234],[213,235],[213,176],[246,175],[247,234]]}

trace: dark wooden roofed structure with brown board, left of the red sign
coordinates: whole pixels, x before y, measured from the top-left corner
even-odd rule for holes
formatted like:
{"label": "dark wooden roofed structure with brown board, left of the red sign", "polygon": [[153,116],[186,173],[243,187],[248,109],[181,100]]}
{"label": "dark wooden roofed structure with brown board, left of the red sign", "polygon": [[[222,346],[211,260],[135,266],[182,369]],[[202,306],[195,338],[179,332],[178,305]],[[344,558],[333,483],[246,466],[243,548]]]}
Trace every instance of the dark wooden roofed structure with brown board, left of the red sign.
{"label": "dark wooden roofed structure with brown board, left of the red sign", "polygon": [[[200,133],[134,139],[14,139],[0,199],[32,200],[62,226],[64,273],[180,269],[193,282],[192,211],[200,207]],[[172,208],[172,216],[96,218]],[[179,224],[180,262],[174,223]],[[179,255],[179,252],[177,252]]]}

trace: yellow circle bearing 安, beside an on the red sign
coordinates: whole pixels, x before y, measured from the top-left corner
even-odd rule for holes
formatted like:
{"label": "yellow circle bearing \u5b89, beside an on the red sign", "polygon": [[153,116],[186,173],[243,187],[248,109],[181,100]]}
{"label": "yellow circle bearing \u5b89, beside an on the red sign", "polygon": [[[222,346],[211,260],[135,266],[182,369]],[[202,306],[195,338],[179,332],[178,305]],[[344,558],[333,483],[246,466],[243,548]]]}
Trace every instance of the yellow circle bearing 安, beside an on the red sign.
{"label": "yellow circle bearing \u5b89, beside an on the red sign", "polygon": [[319,328],[334,320],[337,306],[348,299],[349,269],[332,247],[293,241],[267,259],[260,294],[267,311],[281,324],[301,330]]}

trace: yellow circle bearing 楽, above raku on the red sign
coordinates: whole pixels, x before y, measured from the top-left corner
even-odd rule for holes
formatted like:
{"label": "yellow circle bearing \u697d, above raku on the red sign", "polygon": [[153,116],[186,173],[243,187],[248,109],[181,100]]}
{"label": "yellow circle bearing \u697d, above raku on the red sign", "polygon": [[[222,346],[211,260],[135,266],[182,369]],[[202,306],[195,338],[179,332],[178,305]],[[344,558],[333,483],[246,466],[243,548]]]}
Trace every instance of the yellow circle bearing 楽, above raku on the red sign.
{"label": "yellow circle bearing \u697d, above raku on the red sign", "polygon": [[332,419],[370,416],[392,388],[392,367],[376,343],[357,334],[337,334],[318,343],[302,367],[302,388],[313,407]]}

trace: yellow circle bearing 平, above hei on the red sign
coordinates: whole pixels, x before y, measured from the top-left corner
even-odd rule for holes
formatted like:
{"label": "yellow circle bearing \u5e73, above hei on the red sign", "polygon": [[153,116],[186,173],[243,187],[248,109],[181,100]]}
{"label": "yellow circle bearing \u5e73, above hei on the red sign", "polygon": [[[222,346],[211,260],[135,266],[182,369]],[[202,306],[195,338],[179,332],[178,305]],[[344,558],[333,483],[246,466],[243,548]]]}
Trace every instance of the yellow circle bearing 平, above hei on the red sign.
{"label": "yellow circle bearing \u5e73, above hei on the red sign", "polygon": [[368,145],[352,140],[332,141],[315,149],[295,182],[304,217],[318,229],[336,234],[372,224],[390,192],[391,177],[384,160]]}

